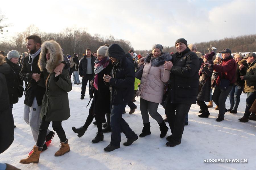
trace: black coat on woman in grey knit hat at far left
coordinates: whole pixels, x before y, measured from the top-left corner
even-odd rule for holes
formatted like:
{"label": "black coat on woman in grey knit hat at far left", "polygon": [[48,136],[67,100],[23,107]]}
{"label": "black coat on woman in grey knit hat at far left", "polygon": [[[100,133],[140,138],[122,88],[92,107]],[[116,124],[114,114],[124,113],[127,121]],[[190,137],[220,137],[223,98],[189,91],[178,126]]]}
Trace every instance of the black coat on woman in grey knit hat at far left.
{"label": "black coat on woman in grey knit hat at far left", "polygon": [[8,88],[8,94],[10,99],[10,104],[18,103],[19,101],[19,91],[18,87],[19,84],[23,86],[23,80],[20,79],[20,69],[21,66],[11,62],[9,59],[6,58],[7,64],[14,70],[11,69],[9,74],[6,75],[6,82]]}

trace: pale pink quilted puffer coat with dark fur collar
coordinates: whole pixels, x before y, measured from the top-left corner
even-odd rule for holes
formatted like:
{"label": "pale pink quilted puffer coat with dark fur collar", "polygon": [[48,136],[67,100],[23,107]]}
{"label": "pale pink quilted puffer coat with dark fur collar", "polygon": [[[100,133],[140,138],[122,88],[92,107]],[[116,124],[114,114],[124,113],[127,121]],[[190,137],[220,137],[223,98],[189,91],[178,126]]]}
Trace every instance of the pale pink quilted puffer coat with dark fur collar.
{"label": "pale pink quilted puffer coat with dark fur collar", "polygon": [[[141,85],[136,95],[141,96],[142,99],[154,103],[162,103],[164,94],[164,83],[168,82],[170,78],[170,70],[164,69],[164,61],[170,61],[170,55],[162,55],[158,57],[156,62],[150,60],[151,57],[145,59],[145,66],[141,78]],[[148,61],[148,62],[146,62]]]}

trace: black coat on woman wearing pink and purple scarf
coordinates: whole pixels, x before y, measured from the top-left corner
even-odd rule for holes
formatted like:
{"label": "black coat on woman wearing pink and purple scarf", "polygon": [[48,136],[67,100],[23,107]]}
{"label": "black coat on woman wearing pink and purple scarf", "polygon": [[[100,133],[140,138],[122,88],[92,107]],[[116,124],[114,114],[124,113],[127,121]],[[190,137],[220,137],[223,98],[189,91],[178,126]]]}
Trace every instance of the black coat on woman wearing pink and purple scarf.
{"label": "black coat on woman wearing pink and purple scarf", "polygon": [[110,90],[109,84],[105,84],[103,76],[110,75],[112,70],[112,63],[98,73],[98,90],[94,88],[94,96],[92,100],[89,113],[97,116],[105,116],[106,113],[110,113]]}

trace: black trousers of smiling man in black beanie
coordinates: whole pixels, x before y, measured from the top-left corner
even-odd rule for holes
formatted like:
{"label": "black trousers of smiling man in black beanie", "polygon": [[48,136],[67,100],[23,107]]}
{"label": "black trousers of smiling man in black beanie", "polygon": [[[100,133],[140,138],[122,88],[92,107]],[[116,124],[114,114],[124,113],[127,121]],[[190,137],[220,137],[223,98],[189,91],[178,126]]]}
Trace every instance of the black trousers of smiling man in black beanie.
{"label": "black trousers of smiling man in black beanie", "polygon": [[189,111],[191,104],[168,103],[165,108],[165,114],[172,132],[172,139],[181,141],[185,126],[185,116]]}

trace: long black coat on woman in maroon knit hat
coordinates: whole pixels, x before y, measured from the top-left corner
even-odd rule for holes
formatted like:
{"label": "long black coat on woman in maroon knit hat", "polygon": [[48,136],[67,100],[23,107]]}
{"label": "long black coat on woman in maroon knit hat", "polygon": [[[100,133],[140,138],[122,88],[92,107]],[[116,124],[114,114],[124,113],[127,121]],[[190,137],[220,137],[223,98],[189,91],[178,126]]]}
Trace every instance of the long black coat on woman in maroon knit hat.
{"label": "long black coat on woman in maroon knit hat", "polygon": [[[210,64],[213,64],[212,60],[207,60]],[[197,100],[200,101],[210,101],[210,90],[212,83],[212,67],[204,67],[202,73],[199,76],[199,85],[201,85],[201,90],[197,94]]]}

